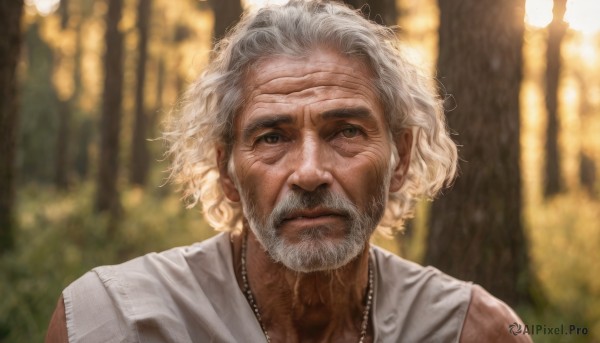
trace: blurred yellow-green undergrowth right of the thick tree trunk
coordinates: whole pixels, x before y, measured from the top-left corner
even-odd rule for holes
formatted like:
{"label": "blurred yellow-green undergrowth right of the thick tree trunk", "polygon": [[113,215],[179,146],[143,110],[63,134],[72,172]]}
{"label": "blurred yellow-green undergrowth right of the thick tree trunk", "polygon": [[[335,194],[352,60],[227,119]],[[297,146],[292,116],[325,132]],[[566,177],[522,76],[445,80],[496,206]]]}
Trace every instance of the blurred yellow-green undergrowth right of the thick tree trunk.
{"label": "blurred yellow-green undergrowth right of the thick tree trunk", "polygon": [[523,320],[589,330],[585,336],[538,336],[543,342],[600,341],[599,209],[597,199],[577,191],[527,208],[532,271],[546,303],[524,309]]}

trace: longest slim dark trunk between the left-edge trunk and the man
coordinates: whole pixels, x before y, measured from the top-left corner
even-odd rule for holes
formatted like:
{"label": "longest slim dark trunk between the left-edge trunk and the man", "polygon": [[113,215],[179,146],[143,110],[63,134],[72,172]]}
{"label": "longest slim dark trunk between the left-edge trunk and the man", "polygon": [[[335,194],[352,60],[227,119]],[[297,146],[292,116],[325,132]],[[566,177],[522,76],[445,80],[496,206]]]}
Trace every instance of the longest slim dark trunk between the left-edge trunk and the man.
{"label": "longest slim dark trunk between the left-edge trunk and the man", "polygon": [[119,172],[119,132],[123,88],[123,35],[119,21],[123,0],[108,0],[106,14],[106,51],[104,53],[104,93],[100,123],[100,160],[96,209],[116,214],[119,210],[117,178]]}

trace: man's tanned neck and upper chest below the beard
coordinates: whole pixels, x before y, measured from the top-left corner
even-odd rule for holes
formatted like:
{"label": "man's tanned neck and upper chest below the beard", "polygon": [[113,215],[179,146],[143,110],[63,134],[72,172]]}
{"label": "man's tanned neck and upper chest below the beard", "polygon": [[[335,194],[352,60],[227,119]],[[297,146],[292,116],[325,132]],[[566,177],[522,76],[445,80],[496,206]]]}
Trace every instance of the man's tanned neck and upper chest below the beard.
{"label": "man's tanned neck and upper chest below the beard", "polygon": [[[273,341],[357,340],[368,287],[368,242],[357,258],[339,269],[299,273],[275,262],[252,231],[244,230],[248,283]],[[243,234],[232,237],[240,288]]]}

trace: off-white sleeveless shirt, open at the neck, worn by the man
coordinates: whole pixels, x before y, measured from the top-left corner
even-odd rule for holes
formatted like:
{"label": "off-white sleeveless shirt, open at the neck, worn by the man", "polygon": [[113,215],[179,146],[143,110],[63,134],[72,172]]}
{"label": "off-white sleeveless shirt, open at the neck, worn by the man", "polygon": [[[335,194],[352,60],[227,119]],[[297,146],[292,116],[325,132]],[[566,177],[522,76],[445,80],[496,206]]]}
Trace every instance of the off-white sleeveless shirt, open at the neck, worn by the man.
{"label": "off-white sleeveless shirt, open at the neck, worn by the man", "polygon": [[[472,285],[372,247],[375,342],[458,342]],[[93,269],[63,291],[69,342],[266,342],[229,235]]]}

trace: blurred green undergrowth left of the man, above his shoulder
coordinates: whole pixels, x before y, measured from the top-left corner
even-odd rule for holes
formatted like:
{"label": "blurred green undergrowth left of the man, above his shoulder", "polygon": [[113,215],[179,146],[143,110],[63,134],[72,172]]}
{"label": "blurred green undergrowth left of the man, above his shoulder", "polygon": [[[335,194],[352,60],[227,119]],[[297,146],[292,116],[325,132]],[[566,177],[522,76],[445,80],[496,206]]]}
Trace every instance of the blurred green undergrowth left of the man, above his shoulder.
{"label": "blurred green undergrowth left of the man, above his shoulder", "polygon": [[89,184],[61,194],[20,192],[17,244],[0,258],[0,342],[41,342],[62,289],[98,265],[188,245],[214,234],[197,211],[184,210],[171,191],[129,189],[110,237],[108,218],[94,213]]}

